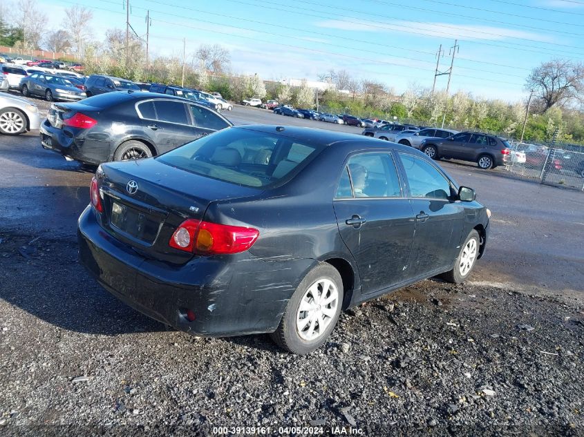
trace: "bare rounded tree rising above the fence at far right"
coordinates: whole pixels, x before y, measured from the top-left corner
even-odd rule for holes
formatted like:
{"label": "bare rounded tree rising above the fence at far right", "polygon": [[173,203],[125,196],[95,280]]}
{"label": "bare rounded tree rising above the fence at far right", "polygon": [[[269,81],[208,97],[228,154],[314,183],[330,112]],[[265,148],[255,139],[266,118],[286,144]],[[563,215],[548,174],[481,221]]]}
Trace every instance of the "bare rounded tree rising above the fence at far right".
{"label": "bare rounded tree rising above the fence at far right", "polygon": [[525,88],[534,90],[545,112],[554,105],[582,99],[584,65],[563,59],[553,59],[531,70]]}

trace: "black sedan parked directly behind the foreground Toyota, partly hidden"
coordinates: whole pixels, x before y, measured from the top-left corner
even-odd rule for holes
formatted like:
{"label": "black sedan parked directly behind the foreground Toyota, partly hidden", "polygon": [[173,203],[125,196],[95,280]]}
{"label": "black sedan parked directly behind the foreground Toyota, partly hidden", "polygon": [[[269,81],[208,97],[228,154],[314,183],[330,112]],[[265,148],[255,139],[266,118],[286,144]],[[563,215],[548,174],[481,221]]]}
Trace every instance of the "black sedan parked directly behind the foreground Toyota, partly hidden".
{"label": "black sedan parked directly behind the foreground Toyota, partly hidden", "polygon": [[86,164],[160,155],[232,126],[188,99],[141,92],[105,93],[53,104],[41,124],[44,148]]}

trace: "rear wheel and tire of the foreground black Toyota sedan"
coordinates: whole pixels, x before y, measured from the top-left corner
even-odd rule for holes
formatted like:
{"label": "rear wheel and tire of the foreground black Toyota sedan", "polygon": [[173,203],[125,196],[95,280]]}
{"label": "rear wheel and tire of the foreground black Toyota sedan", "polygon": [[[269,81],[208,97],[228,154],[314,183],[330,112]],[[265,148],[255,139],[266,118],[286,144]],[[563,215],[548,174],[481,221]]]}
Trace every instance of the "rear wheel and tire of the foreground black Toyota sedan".
{"label": "rear wheel and tire of the foreground black Toyota sedan", "polygon": [[[326,298],[332,302],[317,304],[322,298],[323,288]],[[314,293],[314,295],[312,294]],[[336,298],[334,298],[336,293]],[[325,301],[326,302],[326,301]],[[301,304],[306,310],[300,311]],[[278,329],[271,334],[279,347],[292,353],[303,355],[321,347],[335,328],[343,304],[343,280],[339,271],[322,262],[304,277],[282,316]],[[326,310],[326,313],[325,311]],[[314,314],[314,316],[312,315]],[[313,318],[314,317],[314,318]],[[321,332],[320,324],[323,324]],[[319,332],[316,332],[318,327]]]}

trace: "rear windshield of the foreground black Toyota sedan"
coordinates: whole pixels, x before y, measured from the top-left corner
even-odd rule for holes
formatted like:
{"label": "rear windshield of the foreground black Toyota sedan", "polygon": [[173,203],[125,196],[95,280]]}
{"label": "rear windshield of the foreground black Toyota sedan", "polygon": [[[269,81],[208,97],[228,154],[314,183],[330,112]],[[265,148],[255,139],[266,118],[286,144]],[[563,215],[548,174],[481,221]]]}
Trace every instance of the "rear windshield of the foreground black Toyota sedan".
{"label": "rear windshield of the foreground black Toyota sedan", "polygon": [[224,182],[265,187],[288,179],[308,164],[321,148],[272,133],[228,128],[156,159]]}

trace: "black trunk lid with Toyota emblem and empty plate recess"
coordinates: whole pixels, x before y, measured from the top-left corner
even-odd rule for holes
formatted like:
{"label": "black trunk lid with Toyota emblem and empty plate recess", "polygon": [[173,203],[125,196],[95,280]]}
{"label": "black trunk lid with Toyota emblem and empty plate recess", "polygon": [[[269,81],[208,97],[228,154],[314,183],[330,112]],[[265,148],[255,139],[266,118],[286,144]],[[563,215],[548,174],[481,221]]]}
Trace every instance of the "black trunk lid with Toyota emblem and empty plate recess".
{"label": "black trunk lid with Toyota emblem and empty plate recess", "polygon": [[154,158],[102,166],[102,226],[151,259],[183,264],[194,255],[169,246],[187,218],[202,220],[207,206],[261,193],[162,164]]}

